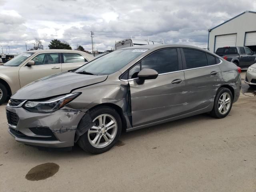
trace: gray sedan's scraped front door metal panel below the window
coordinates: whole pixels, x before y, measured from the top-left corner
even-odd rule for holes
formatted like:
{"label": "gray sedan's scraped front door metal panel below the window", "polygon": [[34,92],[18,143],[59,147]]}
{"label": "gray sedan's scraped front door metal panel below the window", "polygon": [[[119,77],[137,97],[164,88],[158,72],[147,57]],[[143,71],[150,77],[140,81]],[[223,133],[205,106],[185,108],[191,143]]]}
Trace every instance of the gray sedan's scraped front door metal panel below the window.
{"label": "gray sedan's scraped front door metal panel below the window", "polygon": [[[172,81],[181,79],[180,84]],[[186,110],[184,72],[161,74],[156,79],[137,84],[129,80],[133,126],[156,122]]]}

